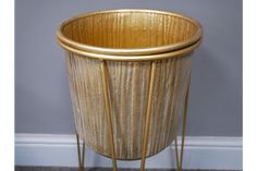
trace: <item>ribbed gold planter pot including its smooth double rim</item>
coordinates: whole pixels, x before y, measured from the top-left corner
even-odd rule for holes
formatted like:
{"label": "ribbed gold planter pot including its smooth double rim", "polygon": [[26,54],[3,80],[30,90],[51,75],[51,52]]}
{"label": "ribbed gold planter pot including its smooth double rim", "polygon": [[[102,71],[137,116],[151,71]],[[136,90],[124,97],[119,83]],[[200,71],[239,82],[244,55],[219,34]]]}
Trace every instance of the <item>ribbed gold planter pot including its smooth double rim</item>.
{"label": "ribbed gold planter pot including its smooth double rim", "polygon": [[76,131],[88,147],[113,160],[145,160],[175,139],[198,22],[154,10],[100,11],[66,20],[57,36]]}

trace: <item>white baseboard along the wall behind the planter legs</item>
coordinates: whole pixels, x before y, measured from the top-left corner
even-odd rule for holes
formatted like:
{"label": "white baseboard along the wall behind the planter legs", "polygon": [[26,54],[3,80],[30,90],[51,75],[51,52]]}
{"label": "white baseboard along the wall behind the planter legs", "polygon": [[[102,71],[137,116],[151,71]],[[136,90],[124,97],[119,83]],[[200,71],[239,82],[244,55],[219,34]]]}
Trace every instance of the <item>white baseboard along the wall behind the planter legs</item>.
{"label": "white baseboard along the wall behind the planter legs", "polygon": [[[74,135],[15,134],[16,166],[77,167]],[[173,146],[146,160],[146,168],[175,168]],[[140,161],[118,161],[119,168],[139,168]],[[111,160],[86,149],[86,167],[111,167]],[[242,137],[186,137],[183,168],[243,170]]]}

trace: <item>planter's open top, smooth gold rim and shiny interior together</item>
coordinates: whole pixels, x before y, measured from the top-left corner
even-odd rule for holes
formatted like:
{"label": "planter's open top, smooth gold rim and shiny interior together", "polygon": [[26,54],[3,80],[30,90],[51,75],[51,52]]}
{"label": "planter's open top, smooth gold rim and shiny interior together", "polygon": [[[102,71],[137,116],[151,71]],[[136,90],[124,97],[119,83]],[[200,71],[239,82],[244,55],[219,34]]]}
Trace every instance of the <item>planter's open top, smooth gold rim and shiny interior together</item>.
{"label": "planter's open top, smooth gold rim and shiny interior together", "polygon": [[123,60],[120,54],[146,60],[148,57],[140,56],[155,54],[155,59],[160,59],[163,57],[158,53],[194,45],[201,38],[201,32],[197,21],[184,15],[134,9],[100,11],[72,17],[63,22],[57,35],[63,48],[76,53],[87,52],[88,57],[108,60]]}

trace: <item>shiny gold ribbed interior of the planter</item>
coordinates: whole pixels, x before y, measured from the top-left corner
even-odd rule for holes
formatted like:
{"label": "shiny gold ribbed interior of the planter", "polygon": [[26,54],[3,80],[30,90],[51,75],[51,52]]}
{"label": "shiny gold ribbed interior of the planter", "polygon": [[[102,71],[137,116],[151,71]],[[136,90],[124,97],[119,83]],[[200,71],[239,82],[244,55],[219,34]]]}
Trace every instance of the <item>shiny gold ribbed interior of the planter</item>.
{"label": "shiny gold ribbed interior of the planter", "polygon": [[171,45],[191,38],[196,30],[183,17],[143,12],[95,14],[63,27],[63,34],[72,40],[106,48]]}

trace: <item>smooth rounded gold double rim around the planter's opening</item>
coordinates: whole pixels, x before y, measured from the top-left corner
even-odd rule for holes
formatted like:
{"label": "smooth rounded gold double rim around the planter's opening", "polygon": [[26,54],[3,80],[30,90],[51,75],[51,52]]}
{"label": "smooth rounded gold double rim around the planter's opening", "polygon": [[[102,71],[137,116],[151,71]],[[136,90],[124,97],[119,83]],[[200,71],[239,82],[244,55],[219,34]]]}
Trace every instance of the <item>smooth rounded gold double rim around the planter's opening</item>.
{"label": "smooth rounded gold double rim around the planter's opening", "polygon": [[[107,13],[126,13],[126,12],[138,12],[138,13],[157,13],[157,14],[164,14],[170,16],[176,16],[184,19],[192,24],[194,24],[197,27],[196,33],[188,39],[179,41],[175,44],[164,45],[164,46],[156,46],[156,47],[149,47],[149,48],[105,48],[100,46],[91,46],[82,44],[78,41],[74,41],[71,38],[68,38],[63,35],[62,30],[63,27],[78,19],[82,17],[88,17],[96,14],[107,14]],[[167,12],[167,11],[158,11],[158,10],[145,10],[145,9],[119,9],[119,10],[105,10],[105,11],[95,11],[89,13],[83,13],[78,14],[74,17],[65,20],[57,29],[57,41],[66,50],[70,50],[75,53],[90,53],[96,54],[95,58],[98,59],[106,59],[103,57],[109,56],[109,60],[119,60],[122,61],[124,59],[133,57],[133,61],[140,61],[146,58],[146,56],[158,56],[161,53],[170,53],[174,51],[181,51],[182,49],[187,49],[191,47],[191,51],[196,48],[196,44],[199,44],[201,41],[203,37],[203,27],[200,23],[198,23],[196,20],[188,17],[184,14],[175,13],[175,12]],[[184,51],[184,50],[182,50]],[[162,54],[161,54],[162,56]],[[89,56],[91,57],[91,56]],[[158,56],[159,57],[159,56]],[[152,58],[151,58],[152,59]],[[155,58],[154,58],[155,59]]]}

